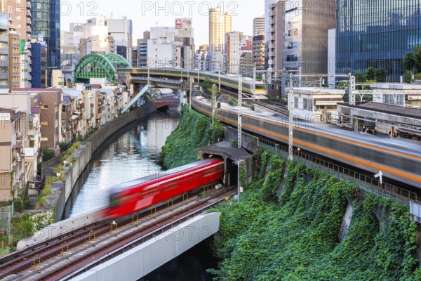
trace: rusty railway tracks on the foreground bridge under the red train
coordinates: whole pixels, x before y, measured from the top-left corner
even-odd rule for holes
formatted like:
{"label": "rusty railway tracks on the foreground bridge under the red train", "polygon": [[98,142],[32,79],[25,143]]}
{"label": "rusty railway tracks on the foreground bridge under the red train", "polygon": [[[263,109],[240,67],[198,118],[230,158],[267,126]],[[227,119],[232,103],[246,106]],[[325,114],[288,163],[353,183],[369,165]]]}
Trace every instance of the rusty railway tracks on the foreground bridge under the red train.
{"label": "rusty railway tracks on the foreground bridge under the red train", "polygon": [[173,226],[172,221],[185,216],[189,218],[189,214],[197,210],[209,209],[232,195],[233,190],[215,190],[210,192],[210,197],[195,195],[173,205],[168,202],[165,206],[147,209],[139,216],[121,218],[113,225],[111,221],[102,221],[100,225],[83,228],[48,246],[39,245],[36,251],[8,256],[8,261],[1,266],[0,280],[62,280],[69,275],[74,277],[149,240],[156,235],[156,230],[161,231],[159,233],[168,230]]}

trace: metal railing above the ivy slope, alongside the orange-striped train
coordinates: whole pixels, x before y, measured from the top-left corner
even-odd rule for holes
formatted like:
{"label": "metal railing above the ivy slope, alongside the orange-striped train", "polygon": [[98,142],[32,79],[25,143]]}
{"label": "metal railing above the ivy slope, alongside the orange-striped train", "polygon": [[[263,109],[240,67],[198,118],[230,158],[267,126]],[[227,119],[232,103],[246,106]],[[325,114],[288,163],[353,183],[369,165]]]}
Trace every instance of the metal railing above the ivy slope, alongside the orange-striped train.
{"label": "metal railing above the ivy slope, alongside the orange-striped train", "polygon": [[[288,158],[288,148],[258,137],[253,136],[253,138],[255,138],[258,141],[258,147],[265,148],[277,155],[281,155],[285,158]],[[417,197],[417,194],[415,192],[406,190],[404,188],[400,188],[396,185],[392,185],[389,183],[383,183],[383,185],[380,186],[380,181],[378,181],[376,178],[360,174],[356,171],[353,171],[352,169],[347,169],[343,166],[333,164],[331,162],[319,159],[312,155],[307,155],[304,152],[294,150],[294,159],[296,162],[303,163],[307,166],[312,166],[314,169],[321,169],[327,171],[329,174],[335,176],[339,180],[344,179],[347,181],[352,181],[356,183],[356,185],[358,185],[359,188],[361,188],[361,190],[363,190],[364,192],[371,192],[375,195],[379,195],[383,198],[392,199],[395,202],[399,202],[401,204],[409,204],[409,202],[411,201],[417,201],[419,199],[421,200],[421,198]]]}

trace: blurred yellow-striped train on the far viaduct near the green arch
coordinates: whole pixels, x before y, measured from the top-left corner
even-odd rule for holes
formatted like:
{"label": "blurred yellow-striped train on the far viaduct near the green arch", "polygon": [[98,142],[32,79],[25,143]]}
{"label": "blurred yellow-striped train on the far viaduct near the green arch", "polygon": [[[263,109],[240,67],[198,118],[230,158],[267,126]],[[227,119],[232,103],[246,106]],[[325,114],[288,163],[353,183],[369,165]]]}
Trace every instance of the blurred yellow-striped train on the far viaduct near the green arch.
{"label": "blurred yellow-striped train on the far viaduct near the green arch", "polygon": [[[132,77],[142,76],[145,77],[148,74],[148,70],[145,67],[140,68],[119,68],[119,72],[128,72]],[[183,70],[181,68],[149,68],[149,75],[151,77],[177,77],[179,79],[193,78],[197,79],[199,72],[199,79],[204,80],[208,79],[212,83],[218,85],[221,81],[221,86],[224,86],[227,89],[238,90],[239,86],[239,77],[234,74],[221,74],[218,72],[202,72],[199,70]],[[220,79],[220,80],[219,80]],[[253,83],[253,79],[248,77],[243,77],[243,93],[253,93],[253,85],[255,85],[255,96],[257,98],[263,97],[267,94],[266,84],[262,81],[256,81]]]}

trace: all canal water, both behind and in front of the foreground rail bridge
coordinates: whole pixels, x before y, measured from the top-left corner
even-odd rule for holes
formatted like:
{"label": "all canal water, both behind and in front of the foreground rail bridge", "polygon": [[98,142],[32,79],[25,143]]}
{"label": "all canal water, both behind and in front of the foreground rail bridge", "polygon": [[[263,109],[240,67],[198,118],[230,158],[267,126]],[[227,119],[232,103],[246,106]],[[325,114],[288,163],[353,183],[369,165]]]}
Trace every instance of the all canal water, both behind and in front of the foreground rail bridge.
{"label": "all canal water, both behind and in front of the foreground rail bridge", "polygon": [[[161,171],[161,148],[171,132],[177,129],[179,121],[180,115],[175,109],[157,112],[131,124],[105,143],[102,150],[95,153],[80,182],[76,183],[67,217],[107,206],[108,192],[113,185],[140,178],[151,171]],[[141,280],[210,281],[212,277],[206,269],[215,266],[207,240]]]}

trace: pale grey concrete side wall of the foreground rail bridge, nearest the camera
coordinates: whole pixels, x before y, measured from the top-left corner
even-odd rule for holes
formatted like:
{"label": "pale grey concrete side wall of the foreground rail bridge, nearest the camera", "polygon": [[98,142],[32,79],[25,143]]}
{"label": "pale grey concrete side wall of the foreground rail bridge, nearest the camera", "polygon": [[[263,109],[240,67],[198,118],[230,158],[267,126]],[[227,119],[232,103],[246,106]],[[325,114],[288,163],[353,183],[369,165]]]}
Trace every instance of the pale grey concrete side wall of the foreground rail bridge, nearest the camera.
{"label": "pale grey concrete side wall of the foreground rail bridge, nearest the camera", "polygon": [[72,280],[139,280],[219,231],[220,213],[203,214]]}

